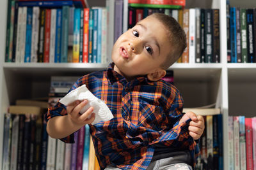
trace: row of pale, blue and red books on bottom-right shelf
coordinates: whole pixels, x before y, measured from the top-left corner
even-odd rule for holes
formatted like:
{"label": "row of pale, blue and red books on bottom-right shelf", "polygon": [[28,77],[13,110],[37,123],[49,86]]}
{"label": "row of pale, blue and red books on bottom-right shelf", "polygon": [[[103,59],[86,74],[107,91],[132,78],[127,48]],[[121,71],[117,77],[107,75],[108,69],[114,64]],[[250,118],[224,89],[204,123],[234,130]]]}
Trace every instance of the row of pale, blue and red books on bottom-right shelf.
{"label": "row of pale, blue and red books on bottom-right shelf", "polygon": [[256,117],[228,117],[228,166],[256,169]]}

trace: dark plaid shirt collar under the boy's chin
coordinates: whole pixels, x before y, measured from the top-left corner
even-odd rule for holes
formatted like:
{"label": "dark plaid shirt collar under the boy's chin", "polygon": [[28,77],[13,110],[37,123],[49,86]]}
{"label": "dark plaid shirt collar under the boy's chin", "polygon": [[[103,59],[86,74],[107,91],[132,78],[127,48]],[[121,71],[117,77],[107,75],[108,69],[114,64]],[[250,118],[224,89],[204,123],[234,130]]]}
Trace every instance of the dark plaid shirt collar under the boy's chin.
{"label": "dark plaid shirt collar under the boy's chin", "polygon": [[[114,70],[114,66],[115,66],[115,63],[111,62],[108,66],[108,71],[107,71],[108,79],[111,82],[111,84],[115,83],[116,81],[126,81],[126,83],[127,83],[127,80],[124,78],[124,76],[122,76],[121,74],[117,73]],[[154,81],[148,80],[147,76],[140,76],[132,81],[135,81],[138,83],[146,83],[148,85],[154,84]]]}

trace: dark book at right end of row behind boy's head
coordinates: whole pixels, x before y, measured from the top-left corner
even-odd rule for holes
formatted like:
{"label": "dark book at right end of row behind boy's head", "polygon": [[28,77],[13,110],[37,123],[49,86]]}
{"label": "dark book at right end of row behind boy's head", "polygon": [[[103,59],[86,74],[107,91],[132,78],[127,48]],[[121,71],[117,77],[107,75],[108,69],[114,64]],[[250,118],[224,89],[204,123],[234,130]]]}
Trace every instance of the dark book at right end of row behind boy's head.
{"label": "dark book at right end of row behind boy's head", "polygon": [[220,62],[220,15],[218,9],[212,10],[212,27],[212,62]]}

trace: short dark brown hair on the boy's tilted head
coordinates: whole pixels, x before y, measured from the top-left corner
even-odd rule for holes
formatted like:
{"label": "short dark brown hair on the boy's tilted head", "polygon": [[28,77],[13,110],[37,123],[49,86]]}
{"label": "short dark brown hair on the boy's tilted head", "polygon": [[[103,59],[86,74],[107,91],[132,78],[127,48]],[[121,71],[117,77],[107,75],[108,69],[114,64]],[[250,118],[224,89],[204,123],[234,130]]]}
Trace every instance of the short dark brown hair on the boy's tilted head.
{"label": "short dark brown hair on the boy's tilted head", "polygon": [[187,46],[186,34],[182,27],[180,27],[179,22],[173,17],[165,15],[164,13],[153,13],[150,17],[157,18],[169,32],[168,37],[170,38],[172,47],[170,48],[169,55],[162,64],[163,69],[168,69],[184,52]]}

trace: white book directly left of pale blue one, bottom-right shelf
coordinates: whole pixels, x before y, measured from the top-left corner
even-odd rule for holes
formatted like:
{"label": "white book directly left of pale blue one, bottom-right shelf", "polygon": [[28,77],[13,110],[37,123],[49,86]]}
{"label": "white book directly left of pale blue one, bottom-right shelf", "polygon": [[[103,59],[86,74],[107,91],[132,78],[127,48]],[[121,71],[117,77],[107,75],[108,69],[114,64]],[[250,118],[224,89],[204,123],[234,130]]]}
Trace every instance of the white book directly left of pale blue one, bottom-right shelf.
{"label": "white book directly left of pale blue one, bottom-right shelf", "polygon": [[233,117],[234,125],[234,169],[240,170],[239,117]]}

